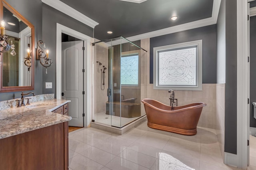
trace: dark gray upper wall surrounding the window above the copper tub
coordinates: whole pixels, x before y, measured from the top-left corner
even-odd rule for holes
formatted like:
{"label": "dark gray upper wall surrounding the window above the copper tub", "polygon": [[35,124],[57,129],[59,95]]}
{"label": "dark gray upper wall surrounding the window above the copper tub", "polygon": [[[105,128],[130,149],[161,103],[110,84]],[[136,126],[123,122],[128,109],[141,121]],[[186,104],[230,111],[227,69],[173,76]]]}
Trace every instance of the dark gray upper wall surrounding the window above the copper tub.
{"label": "dark gray upper wall surrounding the window above the copper tub", "polygon": [[216,83],[216,24],[150,38],[150,83],[153,83],[153,48],[202,40],[202,83]]}

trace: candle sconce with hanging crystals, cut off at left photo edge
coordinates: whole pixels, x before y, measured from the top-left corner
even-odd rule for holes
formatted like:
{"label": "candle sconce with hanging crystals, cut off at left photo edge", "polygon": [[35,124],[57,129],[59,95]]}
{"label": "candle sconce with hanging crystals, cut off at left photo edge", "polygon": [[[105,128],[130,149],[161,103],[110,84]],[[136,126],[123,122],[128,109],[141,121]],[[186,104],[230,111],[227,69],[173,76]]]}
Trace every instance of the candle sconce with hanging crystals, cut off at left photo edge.
{"label": "candle sconce with hanging crystals, cut off at left photo edge", "polygon": [[[10,49],[12,49],[11,51],[11,55],[16,55],[16,52],[14,51],[14,44],[12,43],[12,40],[10,38],[8,38],[8,36],[5,35],[5,22],[4,20],[2,20],[0,22],[0,29],[1,29],[1,35],[0,35],[0,52],[4,53],[6,51],[9,51]],[[11,41],[11,44],[8,43],[8,41]]]}

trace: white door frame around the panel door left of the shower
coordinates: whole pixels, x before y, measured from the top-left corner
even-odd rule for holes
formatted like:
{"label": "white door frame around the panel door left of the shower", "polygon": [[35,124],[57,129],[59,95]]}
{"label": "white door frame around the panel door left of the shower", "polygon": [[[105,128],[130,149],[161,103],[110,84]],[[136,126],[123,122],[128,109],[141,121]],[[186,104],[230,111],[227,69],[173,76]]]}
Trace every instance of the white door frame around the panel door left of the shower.
{"label": "white door frame around the panel door left of the shower", "polygon": [[[84,41],[84,67],[85,75],[84,75],[84,89],[85,89],[85,97],[84,97],[84,127],[90,126],[91,114],[92,113],[92,46],[93,38],[86,36],[76,30],[72,30],[66,26],[63,26],[57,23],[56,27],[56,98],[61,99],[61,43],[62,43],[62,33],[68,34],[72,37],[78,38]],[[81,70],[82,71],[82,70]],[[82,113],[81,113],[82,114]]]}

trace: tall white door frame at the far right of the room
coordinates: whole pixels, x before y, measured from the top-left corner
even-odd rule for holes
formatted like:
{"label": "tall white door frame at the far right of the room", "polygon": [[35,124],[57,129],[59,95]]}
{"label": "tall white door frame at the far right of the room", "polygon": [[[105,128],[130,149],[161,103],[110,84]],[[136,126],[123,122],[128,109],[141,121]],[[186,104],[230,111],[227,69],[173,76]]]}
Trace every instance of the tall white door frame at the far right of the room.
{"label": "tall white door frame at the far right of the room", "polygon": [[[237,0],[237,168],[247,169],[248,150],[248,37],[247,0]],[[246,75],[246,76],[245,76]],[[250,109],[249,109],[250,110]]]}

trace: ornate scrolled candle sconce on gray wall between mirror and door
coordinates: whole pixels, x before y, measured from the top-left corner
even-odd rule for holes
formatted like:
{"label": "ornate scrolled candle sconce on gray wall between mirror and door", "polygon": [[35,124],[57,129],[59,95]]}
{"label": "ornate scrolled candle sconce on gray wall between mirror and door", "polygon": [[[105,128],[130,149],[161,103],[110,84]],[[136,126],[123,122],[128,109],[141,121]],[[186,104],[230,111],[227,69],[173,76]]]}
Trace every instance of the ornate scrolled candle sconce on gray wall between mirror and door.
{"label": "ornate scrolled candle sconce on gray wall between mirror and door", "polygon": [[37,42],[37,49],[36,49],[36,59],[40,61],[41,65],[46,68],[46,74],[47,74],[47,67],[50,67],[52,65],[52,60],[49,59],[49,51],[47,50],[46,52],[42,47],[40,47],[39,44],[44,44],[45,48],[45,43],[42,40],[39,40]]}

